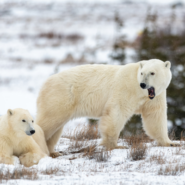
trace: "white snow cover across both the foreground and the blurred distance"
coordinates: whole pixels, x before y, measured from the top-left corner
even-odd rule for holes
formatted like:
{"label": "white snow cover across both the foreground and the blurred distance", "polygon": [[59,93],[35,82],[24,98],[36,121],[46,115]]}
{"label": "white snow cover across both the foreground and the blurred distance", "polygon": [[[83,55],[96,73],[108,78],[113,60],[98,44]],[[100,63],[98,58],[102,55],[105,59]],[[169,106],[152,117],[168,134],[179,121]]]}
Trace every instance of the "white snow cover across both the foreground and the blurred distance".
{"label": "white snow cover across both the foreground and the blurred distance", "polygon": [[[0,115],[9,108],[25,108],[36,116],[36,99],[43,82],[52,74],[87,63],[114,62],[110,55],[120,35],[133,42],[142,31],[148,8],[158,12],[159,24],[176,13],[174,27],[180,28],[184,8],[179,2],[161,0],[0,0]],[[172,5],[179,3],[176,9]],[[123,27],[118,28],[119,15]],[[126,62],[135,62],[135,51],[126,48]],[[86,119],[68,123],[65,130]],[[57,148],[70,144],[61,138]],[[131,161],[128,150],[114,150],[108,162],[71,155],[46,158],[33,167],[39,172],[36,181],[8,181],[9,184],[185,184],[184,173],[177,176],[158,175],[161,166],[184,165],[184,149],[151,147],[146,159]],[[165,164],[149,159],[159,154]],[[177,159],[177,160],[175,160]],[[0,165],[13,170],[17,167]],[[45,168],[56,168],[56,174],[43,175]]]}

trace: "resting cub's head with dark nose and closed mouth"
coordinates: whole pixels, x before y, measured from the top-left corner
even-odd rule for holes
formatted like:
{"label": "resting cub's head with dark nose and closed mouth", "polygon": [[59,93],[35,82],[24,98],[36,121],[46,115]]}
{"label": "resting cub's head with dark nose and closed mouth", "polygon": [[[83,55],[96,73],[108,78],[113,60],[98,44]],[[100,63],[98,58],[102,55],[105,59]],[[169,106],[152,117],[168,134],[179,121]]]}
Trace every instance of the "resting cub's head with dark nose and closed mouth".
{"label": "resting cub's head with dark nose and closed mouth", "polygon": [[24,109],[8,109],[7,119],[12,130],[17,135],[27,134],[31,136],[35,133],[34,120],[30,113]]}

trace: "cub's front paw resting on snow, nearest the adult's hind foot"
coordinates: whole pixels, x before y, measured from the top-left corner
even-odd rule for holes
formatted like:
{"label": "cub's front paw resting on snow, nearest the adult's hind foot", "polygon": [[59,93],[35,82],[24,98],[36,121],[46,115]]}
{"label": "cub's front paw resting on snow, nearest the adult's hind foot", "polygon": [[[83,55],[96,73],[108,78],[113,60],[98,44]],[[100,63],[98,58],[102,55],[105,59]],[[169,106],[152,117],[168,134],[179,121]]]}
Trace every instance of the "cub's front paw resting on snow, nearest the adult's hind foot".
{"label": "cub's front paw resting on snow, nearest the adult's hind foot", "polygon": [[26,167],[30,167],[39,163],[40,159],[45,157],[45,154],[28,152],[19,157],[20,163]]}

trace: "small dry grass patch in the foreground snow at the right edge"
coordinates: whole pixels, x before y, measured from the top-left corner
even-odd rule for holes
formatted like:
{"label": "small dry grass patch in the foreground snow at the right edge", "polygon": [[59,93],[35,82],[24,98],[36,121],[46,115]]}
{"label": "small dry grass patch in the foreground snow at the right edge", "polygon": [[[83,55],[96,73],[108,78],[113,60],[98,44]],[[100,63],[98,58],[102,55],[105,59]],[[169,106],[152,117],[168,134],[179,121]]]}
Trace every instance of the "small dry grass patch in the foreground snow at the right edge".
{"label": "small dry grass patch in the foreground snow at the right edge", "polygon": [[180,175],[185,171],[185,164],[177,164],[177,165],[167,165],[165,167],[161,166],[158,175]]}

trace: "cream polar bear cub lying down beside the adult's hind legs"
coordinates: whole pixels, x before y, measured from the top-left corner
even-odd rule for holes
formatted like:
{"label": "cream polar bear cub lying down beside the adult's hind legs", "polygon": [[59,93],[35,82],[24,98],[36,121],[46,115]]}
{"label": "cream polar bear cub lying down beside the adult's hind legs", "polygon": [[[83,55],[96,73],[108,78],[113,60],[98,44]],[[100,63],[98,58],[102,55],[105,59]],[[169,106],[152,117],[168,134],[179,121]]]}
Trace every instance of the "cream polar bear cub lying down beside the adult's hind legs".
{"label": "cream polar bear cub lying down beside the adult's hind legs", "polygon": [[[36,126],[36,132],[38,127]],[[47,154],[33,139],[34,133],[34,120],[27,110],[9,109],[7,114],[1,116],[0,163],[15,164],[17,163],[16,157],[19,157],[21,164],[30,167],[46,157]],[[44,139],[44,135],[40,137]]]}

